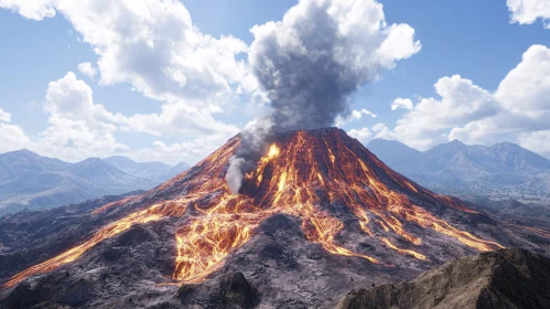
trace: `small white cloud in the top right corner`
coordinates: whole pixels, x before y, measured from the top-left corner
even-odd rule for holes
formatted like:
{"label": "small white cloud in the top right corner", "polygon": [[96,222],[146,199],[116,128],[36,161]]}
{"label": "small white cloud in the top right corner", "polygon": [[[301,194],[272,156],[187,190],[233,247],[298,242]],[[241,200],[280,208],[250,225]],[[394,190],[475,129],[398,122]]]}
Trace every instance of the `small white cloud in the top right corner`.
{"label": "small white cloud in the top right corner", "polygon": [[507,0],[511,22],[531,24],[538,19],[550,28],[550,1],[548,0]]}

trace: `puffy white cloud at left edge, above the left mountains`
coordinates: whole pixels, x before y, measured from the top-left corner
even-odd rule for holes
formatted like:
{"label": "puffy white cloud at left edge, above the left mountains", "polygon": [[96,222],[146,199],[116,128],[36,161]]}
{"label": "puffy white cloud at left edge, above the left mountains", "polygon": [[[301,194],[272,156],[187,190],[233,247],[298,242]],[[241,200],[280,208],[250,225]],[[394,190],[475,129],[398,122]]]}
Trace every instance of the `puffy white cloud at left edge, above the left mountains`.
{"label": "puffy white cloud at left edge, above the left mountains", "polygon": [[33,137],[19,126],[0,124],[0,152],[28,148],[42,156],[78,161],[129,150],[112,135],[125,117],[95,104],[91,88],[72,72],[48,84],[44,113],[50,126]]}

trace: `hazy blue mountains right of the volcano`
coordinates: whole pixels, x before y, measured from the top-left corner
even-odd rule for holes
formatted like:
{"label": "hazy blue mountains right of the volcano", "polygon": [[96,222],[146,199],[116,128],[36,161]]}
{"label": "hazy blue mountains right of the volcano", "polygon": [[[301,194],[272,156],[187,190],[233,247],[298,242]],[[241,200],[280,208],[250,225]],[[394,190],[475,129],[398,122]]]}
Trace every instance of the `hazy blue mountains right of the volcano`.
{"label": "hazy blue mountains right of the volcano", "polygon": [[550,198],[550,160],[516,143],[487,147],[453,140],[418,151],[399,141],[375,139],[367,148],[390,168],[439,193]]}

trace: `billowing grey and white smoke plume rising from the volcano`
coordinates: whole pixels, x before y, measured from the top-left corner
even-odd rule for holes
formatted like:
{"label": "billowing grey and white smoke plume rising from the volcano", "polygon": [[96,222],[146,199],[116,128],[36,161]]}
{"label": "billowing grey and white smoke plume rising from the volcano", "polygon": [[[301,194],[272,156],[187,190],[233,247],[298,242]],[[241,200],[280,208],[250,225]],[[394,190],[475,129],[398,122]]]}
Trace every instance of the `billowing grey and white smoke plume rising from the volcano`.
{"label": "billowing grey and white smoke plume rising from the volcano", "polygon": [[302,0],[282,21],[255,25],[249,65],[272,109],[241,132],[227,181],[237,193],[277,132],[330,127],[359,86],[421,49],[408,24],[385,22],[375,0]]}

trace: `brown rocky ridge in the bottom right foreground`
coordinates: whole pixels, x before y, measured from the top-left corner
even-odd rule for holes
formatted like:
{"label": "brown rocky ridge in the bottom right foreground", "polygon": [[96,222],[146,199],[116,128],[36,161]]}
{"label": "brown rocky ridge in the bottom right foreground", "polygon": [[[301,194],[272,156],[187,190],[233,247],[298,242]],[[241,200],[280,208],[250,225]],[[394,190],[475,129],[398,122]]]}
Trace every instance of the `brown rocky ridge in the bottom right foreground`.
{"label": "brown rocky ridge in the bottom right foreground", "polygon": [[518,248],[461,257],[410,281],[352,291],[338,308],[550,308],[550,258]]}

